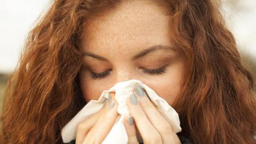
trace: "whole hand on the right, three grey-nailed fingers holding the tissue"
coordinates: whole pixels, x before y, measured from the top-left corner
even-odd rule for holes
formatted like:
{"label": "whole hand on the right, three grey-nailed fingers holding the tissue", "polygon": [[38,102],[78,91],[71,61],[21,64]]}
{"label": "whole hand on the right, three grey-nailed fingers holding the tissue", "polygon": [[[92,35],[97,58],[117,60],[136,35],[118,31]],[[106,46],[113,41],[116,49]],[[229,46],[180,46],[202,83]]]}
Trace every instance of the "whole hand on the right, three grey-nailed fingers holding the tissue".
{"label": "whole hand on the right, three grey-nailed fingers holding the tissue", "polygon": [[139,143],[135,124],[143,143],[181,143],[178,135],[172,130],[172,126],[147,98],[140,85],[135,87],[133,94],[127,98],[126,102],[131,114],[125,118],[124,124],[129,144]]}

